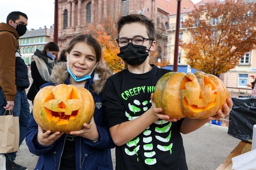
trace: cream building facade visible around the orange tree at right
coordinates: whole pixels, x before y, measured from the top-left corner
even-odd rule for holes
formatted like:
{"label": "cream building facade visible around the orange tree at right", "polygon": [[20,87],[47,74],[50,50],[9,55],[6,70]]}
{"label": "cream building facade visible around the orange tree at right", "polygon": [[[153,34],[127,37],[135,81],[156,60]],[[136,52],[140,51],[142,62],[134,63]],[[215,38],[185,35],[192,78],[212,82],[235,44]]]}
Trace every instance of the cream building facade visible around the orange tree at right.
{"label": "cream building facade visible around the orange tree at right", "polygon": [[[202,0],[201,2],[195,4],[190,8],[185,8],[180,14],[180,22],[186,20],[188,14],[197,6],[204,5],[205,3],[209,3],[212,0]],[[220,0],[220,2],[224,2],[224,0]],[[168,32],[168,42],[167,42],[167,58],[171,65],[173,65],[174,61],[174,45],[175,45],[175,25],[176,25],[176,14],[169,15],[169,30]],[[180,24],[180,34],[179,39],[182,41],[190,41],[191,34],[189,30],[182,27]],[[184,53],[182,48],[179,48],[178,53],[178,67],[186,66],[186,58],[183,57]],[[244,92],[247,94],[251,93],[251,88],[247,85],[250,85],[250,82],[253,82],[253,78],[251,76],[256,76],[256,50],[248,51],[244,56],[241,57],[239,64],[227,71],[224,74],[220,75],[220,79],[224,82],[226,87],[229,87],[229,91],[233,92]],[[240,88],[240,90],[239,90]],[[245,88],[245,89],[241,89]]]}

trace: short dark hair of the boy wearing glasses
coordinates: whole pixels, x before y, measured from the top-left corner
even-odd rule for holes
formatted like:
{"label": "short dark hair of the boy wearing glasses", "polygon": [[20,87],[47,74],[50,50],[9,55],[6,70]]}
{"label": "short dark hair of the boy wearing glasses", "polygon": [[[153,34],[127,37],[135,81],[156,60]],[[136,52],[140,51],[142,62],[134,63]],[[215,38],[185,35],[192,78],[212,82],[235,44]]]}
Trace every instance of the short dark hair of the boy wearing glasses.
{"label": "short dark hair of the boy wearing glasses", "polygon": [[155,29],[154,29],[154,23],[152,20],[149,20],[148,17],[142,14],[130,14],[127,16],[120,17],[119,20],[117,21],[117,36],[119,37],[119,33],[121,28],[125,24],[130,24],[130,23],[141,23],[143,24],[146,29],[147,29],[147,34],[149,39],[155,40]]}

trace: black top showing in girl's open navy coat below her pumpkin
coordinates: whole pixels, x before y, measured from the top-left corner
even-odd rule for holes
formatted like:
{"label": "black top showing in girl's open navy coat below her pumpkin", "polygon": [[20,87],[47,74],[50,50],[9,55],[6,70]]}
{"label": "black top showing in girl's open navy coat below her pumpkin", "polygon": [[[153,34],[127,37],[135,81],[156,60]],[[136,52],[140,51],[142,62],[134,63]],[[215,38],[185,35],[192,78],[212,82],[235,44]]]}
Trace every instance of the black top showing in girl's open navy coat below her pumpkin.
{"label": "black top showing in girl's open navy coat below her pumpkin", "polygon": [[76,136],[67,134],[59,170],[76,170]]}

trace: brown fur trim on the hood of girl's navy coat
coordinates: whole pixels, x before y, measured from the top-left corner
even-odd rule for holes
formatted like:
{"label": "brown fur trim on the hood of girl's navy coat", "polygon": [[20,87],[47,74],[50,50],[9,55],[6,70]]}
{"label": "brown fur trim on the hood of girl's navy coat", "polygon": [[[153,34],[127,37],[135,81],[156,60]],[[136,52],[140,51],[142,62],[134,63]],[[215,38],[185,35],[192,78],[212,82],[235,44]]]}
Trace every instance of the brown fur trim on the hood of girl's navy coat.
{"label": "brown fur trim on the hood of girl's navy coat", "polygon": [[[102,68],[97,66],[94,69],[93,77],[93,92],[96,94],[102,93],[105,82],[112,75],[112,72],[109,68]],[[69,73],[67,71],[67,62],[58,62],[52,68],[52,74],[50,76],[50,81],[55,85],[64,84],[65,80],[69,78]]]}

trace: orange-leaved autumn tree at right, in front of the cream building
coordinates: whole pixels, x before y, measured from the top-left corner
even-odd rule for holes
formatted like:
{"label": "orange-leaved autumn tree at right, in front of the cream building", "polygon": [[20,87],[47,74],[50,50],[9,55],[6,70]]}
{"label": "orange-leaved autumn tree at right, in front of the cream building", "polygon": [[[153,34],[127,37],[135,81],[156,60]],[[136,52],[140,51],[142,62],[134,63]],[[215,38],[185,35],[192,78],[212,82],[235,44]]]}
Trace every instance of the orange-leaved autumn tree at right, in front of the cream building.
{"label": "orange-leaved autumn tree at right, in front of the cream building", "polygon": [[183,42],[187,63],[219,76],[234,68],[256,45],[256,3],[243,0],[205,3],[184,21],[191,40]]}

